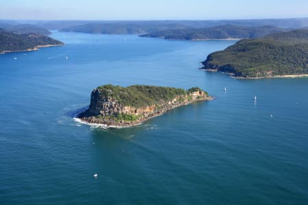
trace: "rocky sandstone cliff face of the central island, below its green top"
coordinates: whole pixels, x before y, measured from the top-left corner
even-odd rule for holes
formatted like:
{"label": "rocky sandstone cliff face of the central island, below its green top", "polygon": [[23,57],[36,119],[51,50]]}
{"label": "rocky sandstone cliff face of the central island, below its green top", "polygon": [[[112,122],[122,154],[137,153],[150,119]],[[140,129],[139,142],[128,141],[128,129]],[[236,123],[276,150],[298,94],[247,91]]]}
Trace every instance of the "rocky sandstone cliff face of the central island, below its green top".
{"label": "rocky sandstone cliff face of the central island, below its green top", "polygon": [[[196,101],[211,99],[205,92],[198,90],[176,96],[172,100],[161,101],[159,104],[132,107],[123,105],[118,100],[115,100],[112,98],[112,91],[110,90],[109,92],[102,92],[98,88],[94,89],[91,94],[88,110],[81,113],[79,118],[85,122],[105,124],[106,126],[132,126],[157,115],[162,115],[162,113],[169,109],[188,105]],[[126,118],[120,118],[123,116]]]}

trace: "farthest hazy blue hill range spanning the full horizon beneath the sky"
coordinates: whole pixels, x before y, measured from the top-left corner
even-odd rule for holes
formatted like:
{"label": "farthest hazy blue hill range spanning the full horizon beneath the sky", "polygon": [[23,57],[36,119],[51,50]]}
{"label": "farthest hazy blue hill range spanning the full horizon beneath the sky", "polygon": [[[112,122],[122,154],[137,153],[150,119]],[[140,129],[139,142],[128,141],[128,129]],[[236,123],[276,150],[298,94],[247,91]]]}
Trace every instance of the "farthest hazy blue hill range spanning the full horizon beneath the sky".
{"label": "farthest hazy blue hill range spanning the full horizon beneath the sky", "polygon": [[[86,25],[128,25],[129,27],[144,27],[141,33],[150,33],[159,31],[160,29],[151,29],[151,27],[163,27],[163,29],[196,29],[218,27],[222,25],[236,25],[248,27],[260,27],[271,25],[282,28],[302,28],[308,27],[308,18],[268,18],[268,19],[233,19],[233,20],[0,20],[1,24],[18,25],[31,24],[48,30],[73,31],[73,29],[81,29]],[[159,25],[159,27],[157,27]],[[174,25],[177,25],[175,27]],[[80,26],[80,27],[79,27]],[[145,29],[148,27],[148,29]],[[90,33],[90,31],[87,31]],[[101,32],[98,32],[101,33]]]}

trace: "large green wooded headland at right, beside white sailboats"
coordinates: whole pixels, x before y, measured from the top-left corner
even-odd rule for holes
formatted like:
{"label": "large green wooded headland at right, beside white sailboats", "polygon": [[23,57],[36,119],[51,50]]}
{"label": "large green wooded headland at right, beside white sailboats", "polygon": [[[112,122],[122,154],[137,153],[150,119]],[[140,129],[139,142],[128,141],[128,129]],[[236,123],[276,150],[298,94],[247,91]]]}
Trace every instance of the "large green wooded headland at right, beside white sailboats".
{"label": "large green wooded headland at right, beside white sailboats", "polygon": [[308,29],[244,39],[224,51],[211,53],[203,70],[238,78],[303,77],[308,75]]}

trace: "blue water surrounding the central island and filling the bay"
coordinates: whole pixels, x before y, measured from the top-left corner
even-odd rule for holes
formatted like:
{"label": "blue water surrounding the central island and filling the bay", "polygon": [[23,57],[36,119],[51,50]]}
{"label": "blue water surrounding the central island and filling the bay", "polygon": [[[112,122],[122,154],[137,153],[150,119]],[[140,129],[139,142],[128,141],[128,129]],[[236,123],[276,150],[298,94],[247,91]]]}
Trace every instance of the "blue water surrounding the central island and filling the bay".
{"label": "blue water surrounding the central island and filling the bay", "polygon": [[[197,69],[234,41],[53,37],[66,45],[0,55],[0,204],[308,204],[308,78]],[[106,83],[199,86],[215,100],[133,128],[75,122]]]}

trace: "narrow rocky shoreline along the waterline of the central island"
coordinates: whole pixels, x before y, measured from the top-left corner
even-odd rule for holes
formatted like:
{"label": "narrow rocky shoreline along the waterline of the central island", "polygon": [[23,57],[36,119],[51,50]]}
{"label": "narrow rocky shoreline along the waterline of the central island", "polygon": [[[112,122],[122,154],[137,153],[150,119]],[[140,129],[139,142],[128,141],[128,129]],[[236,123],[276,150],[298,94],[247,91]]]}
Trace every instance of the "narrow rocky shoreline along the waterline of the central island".
{"label": "narrow rocky shoreline along the waterline of the central island", "polygon": [[[74,120],[76,122],[79,122],[79,123],[82,123],[82,124],[87,124],[89,126],[100,126],[102,128],[129,128],[129,127],[132,127],[132,126],[138,126],[140,124],[142,124],[143,122],[147,121],[147,120],[151,120],[152,118],[156,118],[160,115],[164,115],[164,113],[172,110],[172,109],[176,109],[177,107],[182,107],[182,106],[185,106],[185,105],[190,105],[194,102],[202,102],[202,101],[209,101],[209,100],[214,100],[214,97],[212,96],[209,96],[209,97],[205,97],[205,98],[202,98],[202,99],[197,99],[197,100],[194,100],[192,102],[186,102],[185,104],[183,105],[177,105],[175,107],[172,107],[170,109],[166,109],[166,111],[162,111],[160,113],[157,113],[157,114],[154,114],[154,115],[151,115],[149,116],[148,118],[145,118],[145,119],[141,119],[141,120],[136,120],[136,122],[131,122],[130,124],[127,124],[127,125],[116,125],[117,123],[115,124],[103,124],[103,123],[95,123],[95,122],[88,122],[86,119],[88,118],[79,118],[79,114],[77,114],[75,117],[74,117]],[[91,118],[91,117],[90,117]]]}

